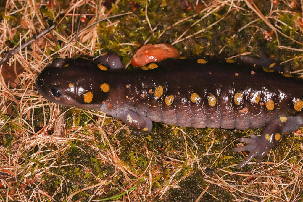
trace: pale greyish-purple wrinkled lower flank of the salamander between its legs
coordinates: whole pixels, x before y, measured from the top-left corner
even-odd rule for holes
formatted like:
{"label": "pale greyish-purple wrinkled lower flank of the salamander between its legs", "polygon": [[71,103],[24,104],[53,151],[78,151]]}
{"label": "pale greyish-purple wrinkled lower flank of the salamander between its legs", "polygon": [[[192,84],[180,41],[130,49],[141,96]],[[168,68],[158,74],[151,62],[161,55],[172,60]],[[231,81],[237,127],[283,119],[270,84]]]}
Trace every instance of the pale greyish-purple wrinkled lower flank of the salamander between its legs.
{"label": "pale greyish-purple wrinkled lower flank of the salamander between its legs", "polygon": [[181,127],[221,127],[225,129],[237,128],[239,130],[262,127],[275,118],[265,118],[266,114],[261,110],[258,114],[246,112],[244,114],[236,115],[231,110],[227,112],[227,109],[224,107],[222,110],[215,112],[209,112],[203,107],[198,110],[193,110],[188,106],[174,108],[173,110],[155,110],[151,108],[147,110],[147,112],[142,112],[140,110],[138,111],[138,114],[145,115],[155,122],[163,122],[165,124],[178,125]]}

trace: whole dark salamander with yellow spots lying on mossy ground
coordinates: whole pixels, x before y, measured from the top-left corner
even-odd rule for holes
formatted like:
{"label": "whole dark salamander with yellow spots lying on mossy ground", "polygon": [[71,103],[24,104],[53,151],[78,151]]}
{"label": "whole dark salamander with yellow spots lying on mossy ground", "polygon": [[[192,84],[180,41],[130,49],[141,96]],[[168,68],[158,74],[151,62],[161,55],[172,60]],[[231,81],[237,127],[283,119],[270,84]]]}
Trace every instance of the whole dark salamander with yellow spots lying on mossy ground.
{"label": "whole dark salamander with yellow spots lying on mossy ground", "polygon": [[[240,129],[265,126],[261,136],[233,151],[250,151],[257,165],[283,134],[303,126],[303,80],[261,54],[228,59],[168,58],[124,69],[114,53],[97,58],[56,58],[36,79],[46,99],[64,106],[100,110],[149,134],[152,121],[181,127]],[[258,65],[265,66],[258,67]]]}

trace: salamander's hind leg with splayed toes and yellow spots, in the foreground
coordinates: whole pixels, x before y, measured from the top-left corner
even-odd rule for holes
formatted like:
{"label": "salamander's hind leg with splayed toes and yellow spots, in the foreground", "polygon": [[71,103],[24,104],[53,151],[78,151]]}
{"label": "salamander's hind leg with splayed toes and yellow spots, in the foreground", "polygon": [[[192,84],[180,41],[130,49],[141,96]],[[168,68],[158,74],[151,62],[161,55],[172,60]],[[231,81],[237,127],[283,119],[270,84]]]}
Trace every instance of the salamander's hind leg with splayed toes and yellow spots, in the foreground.
{"label": "salamander's hind leg with splayed toes and yellow spots, in the foreground", "polygon": [[303,126],[302,116],[285,116],[272,120],[264,129],[261,136],[251,134],[251,138],[241,137],[240,142],[246,142],[247,145],[243,147],[235,147],[232,151],[250,151],[249,155],[237,165],[241,168],[248,164],[255,156],[257,158],[257,165],[261,164],[263,157],[281,140],[285,133],[289,133]]}

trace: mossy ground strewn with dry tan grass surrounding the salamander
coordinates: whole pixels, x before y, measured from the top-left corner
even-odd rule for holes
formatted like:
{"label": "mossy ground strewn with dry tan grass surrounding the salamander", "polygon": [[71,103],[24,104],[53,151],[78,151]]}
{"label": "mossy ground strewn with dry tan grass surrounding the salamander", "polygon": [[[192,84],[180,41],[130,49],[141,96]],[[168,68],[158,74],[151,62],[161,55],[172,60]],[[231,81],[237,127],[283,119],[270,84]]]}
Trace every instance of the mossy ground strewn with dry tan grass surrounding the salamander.
{"label": "mossy ground strewn with dry tan grass surrounding the salamander", "polygon": [[[238,170],[235,164],[244,156],[231,148],[238,143],[237,138],[261,134],[263,128],[212,130],[154,123],[151,134],[133,135],[121,121],[100,112],[64,107],[61,108],[67,111],[61,116],[64,121],[55,126],[54,120],[59,119],[56,116],[60,113],[58,106],[45,101],[34,87],[36,75],[58,56],[96,56],[115,51],[123,65],[132,68],[129,65],[132,56],[145,43],[173,44],[183,56],[228,58],[263,50],[276,61],[287,61],[283,65],[288,71],[296,71],[302,67],[303,50],[298,2],[201,1],[196,5],[196,1],[183,0],[121,0],[116,5],[105,1],[106,7],[99,1],[85,4],[80,0],[36,1],[35,5],[21,0],[0,3],[3,42],[9,40],[18,45],[21,38],[24,43],[42,31],[41,22],[58,23],[52,31],[58,44],[46,35],[11,59],[12,68],[16,61],[25,67],[25,72],[18,75],[17,86],[13,88],[1,81],[0,145],[4,158],[0,172],[42,190],[57,201],[303,200],[299,131],[286,134],[261,166],[248,164]],[[276,35],[248,4],[258,8],[268,23],[289,38],[281,33]],[[71,15],[67,15],[69,8]],[[132,13],[84,29],[103,14],[127,12]],[[84,30],[75,40],[72,36],[80,16],[78,30]],[[3,57],[9,48],[5,43],[1,46]],[[288,61],[292,58],[295,59]],[[63,132],[54,135],[58,127],[64,128]],[[131,184],[138,177],[140,180]],[[1,184],[1,189],[18,185],[5,179]],[[128,190],[135,189],[112,197],[127,185]],[[51,200],[21,185],[0,194],[0,201]]]}

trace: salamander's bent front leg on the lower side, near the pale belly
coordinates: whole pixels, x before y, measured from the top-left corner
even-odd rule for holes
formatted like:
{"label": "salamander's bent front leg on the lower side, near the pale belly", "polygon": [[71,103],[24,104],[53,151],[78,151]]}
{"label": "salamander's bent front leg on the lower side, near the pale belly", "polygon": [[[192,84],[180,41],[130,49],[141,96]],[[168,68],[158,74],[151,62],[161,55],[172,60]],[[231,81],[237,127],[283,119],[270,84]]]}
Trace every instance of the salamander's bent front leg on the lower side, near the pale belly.
{"label": "salamander's bent front leg on the lower side, near the pale belly", "polygon": [[117,118],[121,119],[126,125],[133,127],[132,134],[149,134],[152,129],[152,121],[144,116],[139,115],[137,112],[126,109],[118,114]]}

